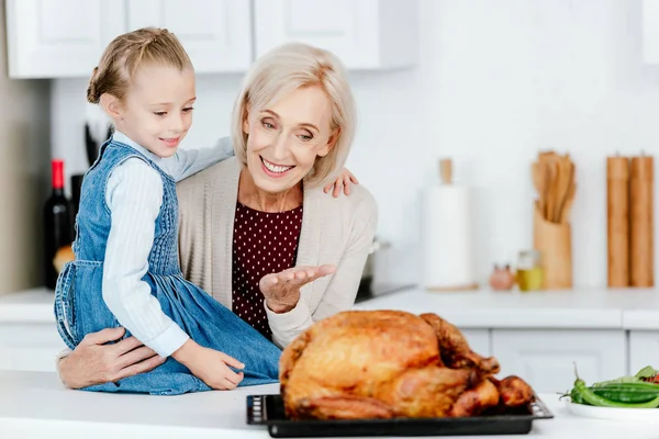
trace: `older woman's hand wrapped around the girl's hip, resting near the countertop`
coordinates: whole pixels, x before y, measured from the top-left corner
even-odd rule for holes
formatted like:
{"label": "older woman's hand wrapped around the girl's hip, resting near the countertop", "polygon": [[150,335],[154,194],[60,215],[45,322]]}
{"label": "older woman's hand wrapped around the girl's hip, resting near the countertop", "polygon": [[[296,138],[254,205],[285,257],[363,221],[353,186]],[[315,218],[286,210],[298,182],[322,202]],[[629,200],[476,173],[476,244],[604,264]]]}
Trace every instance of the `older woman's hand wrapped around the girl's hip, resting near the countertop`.
{"label": "older woman's hand wrapped around the girl's hip, resting near the countertop", "polygon": [[81,389],[148,372],[165,362],[165,358],[135,337],[105,345],[124,334],[121,327],[88,334],[71,353],[59,360],[62,381],[70,389]]}

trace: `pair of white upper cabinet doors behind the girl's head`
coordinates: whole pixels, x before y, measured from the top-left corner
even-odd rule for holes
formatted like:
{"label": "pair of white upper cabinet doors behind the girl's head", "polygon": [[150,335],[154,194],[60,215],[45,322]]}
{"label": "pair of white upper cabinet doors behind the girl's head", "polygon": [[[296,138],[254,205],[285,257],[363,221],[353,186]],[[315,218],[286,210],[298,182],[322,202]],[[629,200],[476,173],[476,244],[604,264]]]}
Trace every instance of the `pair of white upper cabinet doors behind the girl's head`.
{"label": "pair of white upper cabinet doors behind the girl's head", "polygon": [[200,74],[252,63],[252,3],[245,0],[7,0],[12,78],[89,77],[115,36],[167,27]]}

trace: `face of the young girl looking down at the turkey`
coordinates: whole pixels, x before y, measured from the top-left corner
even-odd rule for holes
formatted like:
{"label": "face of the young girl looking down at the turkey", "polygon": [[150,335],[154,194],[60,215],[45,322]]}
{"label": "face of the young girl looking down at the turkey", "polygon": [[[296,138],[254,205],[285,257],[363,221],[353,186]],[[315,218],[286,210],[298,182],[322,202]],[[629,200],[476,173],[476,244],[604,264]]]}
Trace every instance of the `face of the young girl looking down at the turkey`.
{"label": "face of the young girl looking down at the turkey", "polygon": [[171,157],[192,125],[194,71],[148,66],[134,76],[123,102],[118,101],[119,131],[158,157]]}

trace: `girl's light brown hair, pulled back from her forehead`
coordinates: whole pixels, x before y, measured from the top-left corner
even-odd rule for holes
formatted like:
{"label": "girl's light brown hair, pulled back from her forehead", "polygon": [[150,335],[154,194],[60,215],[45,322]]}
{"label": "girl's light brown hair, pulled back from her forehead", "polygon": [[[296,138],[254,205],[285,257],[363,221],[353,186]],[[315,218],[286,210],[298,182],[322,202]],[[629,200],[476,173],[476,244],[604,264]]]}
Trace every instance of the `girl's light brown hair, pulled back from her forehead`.
{"label": "girl's light brown hair, pulled back from her forehead", "polygon": [[87,100],[99,103],[103,93],[122,100],[137,69],[144,65],[192,68],[190,57],[178,38],[166,29],[144,27],[114,38],[93,69]]}

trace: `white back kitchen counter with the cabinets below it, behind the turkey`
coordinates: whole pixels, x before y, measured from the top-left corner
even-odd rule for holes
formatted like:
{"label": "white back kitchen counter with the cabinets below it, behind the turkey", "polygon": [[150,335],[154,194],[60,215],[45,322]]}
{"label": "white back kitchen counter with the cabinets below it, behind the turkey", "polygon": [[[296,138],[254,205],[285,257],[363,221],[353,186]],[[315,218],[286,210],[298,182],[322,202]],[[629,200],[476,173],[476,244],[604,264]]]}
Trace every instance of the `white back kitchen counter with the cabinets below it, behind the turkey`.
{"label": "white back kitchen counter with the cabinets below it, behind the turkey", "polygon": [[[46,290],[0,296],[0,371],[55,371],[54,359],[64,344],[55,328],[53,299]],[[411,289],[355,308],[436,313],[463,330],[477,352],[496,357],[502,376],[517,374],[540,393],[569,389],[573,363],[588,382],[659,367],[659,294],[652,290]],[[76,401],[83,397],[90,396]]]}

